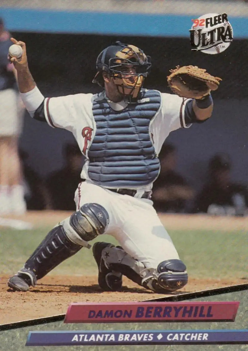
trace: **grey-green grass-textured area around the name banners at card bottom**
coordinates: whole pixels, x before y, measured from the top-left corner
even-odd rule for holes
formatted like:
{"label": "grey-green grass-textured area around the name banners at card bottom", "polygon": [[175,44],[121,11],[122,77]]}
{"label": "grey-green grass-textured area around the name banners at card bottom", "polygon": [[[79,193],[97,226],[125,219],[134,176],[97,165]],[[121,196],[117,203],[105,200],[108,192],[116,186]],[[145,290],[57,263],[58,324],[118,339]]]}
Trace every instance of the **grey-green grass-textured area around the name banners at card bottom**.
{"label": "grey-green grass-textured area around the name banners at card bottom", "polygon": [[[63,331],[63,330],[209,330],[209,329],[247,329],[248,294],[246,291],[227,293],[192,301],[240,301],[235,322],[201,322],[201,323],[94,323],[64,324],[55,322],[37,326],[19,328],[0,332],[0,350],[23,351],[29,331]],[[120,345],[120,346],[29,346],[28,351],[87,350],[87,351],[247,351],[248,345]]]}

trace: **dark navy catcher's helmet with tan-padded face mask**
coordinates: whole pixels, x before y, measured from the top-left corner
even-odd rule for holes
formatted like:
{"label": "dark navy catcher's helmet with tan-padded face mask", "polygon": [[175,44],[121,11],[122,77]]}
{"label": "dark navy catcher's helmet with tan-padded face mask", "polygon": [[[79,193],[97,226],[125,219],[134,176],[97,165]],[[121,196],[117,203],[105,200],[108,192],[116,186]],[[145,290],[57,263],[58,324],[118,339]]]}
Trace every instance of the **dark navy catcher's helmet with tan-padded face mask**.
{"label": "dark navy catcher's helmet with tan-padded face mask", "polygon": [[[125,67],[134,67],[135,73],[125,71]],[[102,72],[105,71],[114,78],[114,83],[120,94],[136,99],[151,67],[150,57],[134,45],[122,44],[116,41],[114,45],[105,48],[96,60],[96,73],[93,83],[104,87]]]}

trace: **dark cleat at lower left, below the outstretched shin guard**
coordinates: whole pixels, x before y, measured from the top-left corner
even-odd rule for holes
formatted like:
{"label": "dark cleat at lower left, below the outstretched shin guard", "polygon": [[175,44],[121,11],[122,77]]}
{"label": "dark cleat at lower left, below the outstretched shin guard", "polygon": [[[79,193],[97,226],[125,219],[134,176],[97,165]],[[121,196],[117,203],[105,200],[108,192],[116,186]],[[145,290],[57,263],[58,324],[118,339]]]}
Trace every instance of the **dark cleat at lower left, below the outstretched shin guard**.
{"label": "dark cleat at lower left, below the outstretched shin guard", "polygon": [[29,287],[35,286],[37,279],[32,271],[20,270],[13,277],[9,278],[8,286],[14,291],[28,291]]}

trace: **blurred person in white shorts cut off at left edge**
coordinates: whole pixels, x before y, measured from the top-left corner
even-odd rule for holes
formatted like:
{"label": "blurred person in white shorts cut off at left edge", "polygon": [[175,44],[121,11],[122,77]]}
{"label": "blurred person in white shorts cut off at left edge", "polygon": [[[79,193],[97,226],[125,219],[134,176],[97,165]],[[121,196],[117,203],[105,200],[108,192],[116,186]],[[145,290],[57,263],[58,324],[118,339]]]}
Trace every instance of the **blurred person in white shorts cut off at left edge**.
{"label": "blurred person in white shorts cut off at left edge", "polygon": [[18,140],[24,108],[15,81],[15,69],[8,61],[12,45],[0,19],[0,214],[26,211]]}

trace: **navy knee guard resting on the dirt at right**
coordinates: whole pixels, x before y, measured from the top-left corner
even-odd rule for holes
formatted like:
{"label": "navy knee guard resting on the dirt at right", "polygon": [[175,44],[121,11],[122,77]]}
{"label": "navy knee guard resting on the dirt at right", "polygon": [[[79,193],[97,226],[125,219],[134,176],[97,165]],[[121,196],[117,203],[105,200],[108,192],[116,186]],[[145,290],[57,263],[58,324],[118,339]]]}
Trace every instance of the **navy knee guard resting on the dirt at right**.
{"label": "navy knee guard resting on the dirt at right", "polygon": [[157,266],[157,283],[169,291],[175,291],[188,282],[186,266],[181,260],[171,259]]}

